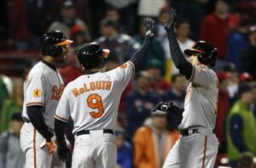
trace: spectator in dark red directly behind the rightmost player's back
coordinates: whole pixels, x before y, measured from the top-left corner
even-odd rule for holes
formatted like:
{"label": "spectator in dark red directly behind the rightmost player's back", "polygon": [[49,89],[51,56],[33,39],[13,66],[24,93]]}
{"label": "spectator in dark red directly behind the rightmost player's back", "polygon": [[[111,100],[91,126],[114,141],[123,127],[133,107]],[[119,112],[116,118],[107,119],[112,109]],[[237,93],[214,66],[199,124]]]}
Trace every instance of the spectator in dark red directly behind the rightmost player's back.
{"label": "spectator in dark red directly behind the rightmost player's back", "polygon": [[231,75],[229,72],[220,71],[218,76],[218,115],[216,118],[216,136],[218,137],[218,153],[226,153],[225,120],[230,110],[230,96],[227,90]]}

